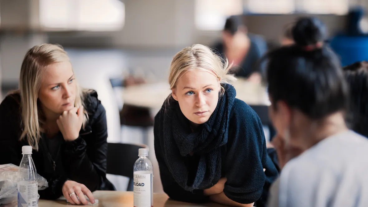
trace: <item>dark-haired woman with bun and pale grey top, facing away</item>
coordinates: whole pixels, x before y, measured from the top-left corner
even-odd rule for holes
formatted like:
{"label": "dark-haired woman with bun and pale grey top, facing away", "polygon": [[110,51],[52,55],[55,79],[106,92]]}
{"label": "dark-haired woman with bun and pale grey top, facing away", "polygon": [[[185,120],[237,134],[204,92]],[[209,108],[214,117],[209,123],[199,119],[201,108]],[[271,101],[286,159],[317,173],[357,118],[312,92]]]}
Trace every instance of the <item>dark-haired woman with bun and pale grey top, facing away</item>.
{"label": "dark-haired woman with bun and pale grey top, facing away", "polygon": [[295,44],[266,56],[274,145],[286,163],[269,206],[368,206],[368,140],[345,124],[348,88],[325,36],[321,21],[300,18]]}

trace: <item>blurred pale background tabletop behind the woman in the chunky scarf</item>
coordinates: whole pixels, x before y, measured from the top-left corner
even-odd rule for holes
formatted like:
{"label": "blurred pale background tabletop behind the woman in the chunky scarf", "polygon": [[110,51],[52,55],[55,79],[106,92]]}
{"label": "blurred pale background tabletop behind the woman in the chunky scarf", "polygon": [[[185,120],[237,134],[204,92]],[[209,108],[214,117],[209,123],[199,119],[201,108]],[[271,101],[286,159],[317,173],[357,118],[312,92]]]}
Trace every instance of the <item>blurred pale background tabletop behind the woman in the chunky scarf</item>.
{"label": "blurred pale background tabletop behind the woman in the chunky scarf", "polygon": [[[252,83],[245,79],[238,79],[231,83],[236,89],[237,98],[249,105],[269,105],[266,89],[261,84]],[[122,92],[123,103],[151,109],[160,109],[164,100],[170,94],[167,82],[146,83],[129,86]]]}

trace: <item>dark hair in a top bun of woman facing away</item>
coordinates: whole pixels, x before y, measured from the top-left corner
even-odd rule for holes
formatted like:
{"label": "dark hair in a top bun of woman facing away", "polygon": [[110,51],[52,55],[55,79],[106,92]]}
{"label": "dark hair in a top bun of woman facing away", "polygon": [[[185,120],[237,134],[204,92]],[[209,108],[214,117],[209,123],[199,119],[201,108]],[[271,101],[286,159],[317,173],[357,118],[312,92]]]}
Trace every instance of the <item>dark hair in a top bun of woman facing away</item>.
{"label": "dark hair in a top bun of woman facing away", "polygon": [[273,107],[284,101],[311,119],[320,119],[346,110],[347,86],[340,61],[322,41],[326,37],[323,23],[314,17],[297,20],[293,28],[296,44],[270,51],[266,81]]}

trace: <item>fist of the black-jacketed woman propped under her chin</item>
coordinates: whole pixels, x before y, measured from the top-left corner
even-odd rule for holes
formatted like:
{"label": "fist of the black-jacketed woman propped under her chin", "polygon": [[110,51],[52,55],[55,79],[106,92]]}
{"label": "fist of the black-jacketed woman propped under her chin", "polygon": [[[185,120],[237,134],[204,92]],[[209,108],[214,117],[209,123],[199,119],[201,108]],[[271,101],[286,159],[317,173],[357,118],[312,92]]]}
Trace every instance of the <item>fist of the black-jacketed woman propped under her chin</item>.
{"label": "fist of the black-jacketed woman propped under her chin", "polygon": [[77,139],[83,123],[83,106],[64,111],[56,120],[56,123],[65,141]]}

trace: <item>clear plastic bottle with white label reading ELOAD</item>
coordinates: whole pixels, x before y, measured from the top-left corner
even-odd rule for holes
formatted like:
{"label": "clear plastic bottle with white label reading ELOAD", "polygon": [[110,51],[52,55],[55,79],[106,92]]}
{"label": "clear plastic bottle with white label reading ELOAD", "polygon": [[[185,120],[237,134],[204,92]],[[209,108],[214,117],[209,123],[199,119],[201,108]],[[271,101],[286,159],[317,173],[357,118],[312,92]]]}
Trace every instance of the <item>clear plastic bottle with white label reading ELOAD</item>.
{"label": "clear plastic bottle with white label reading ELOAD", "polygon": [[153,166],[148,149],[139,149],[138,156],[133,167],[134,207],[153,207]]}

